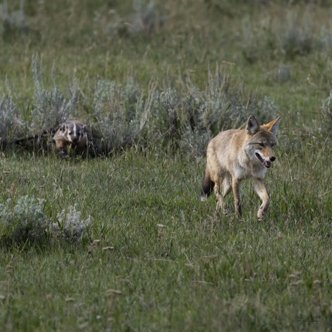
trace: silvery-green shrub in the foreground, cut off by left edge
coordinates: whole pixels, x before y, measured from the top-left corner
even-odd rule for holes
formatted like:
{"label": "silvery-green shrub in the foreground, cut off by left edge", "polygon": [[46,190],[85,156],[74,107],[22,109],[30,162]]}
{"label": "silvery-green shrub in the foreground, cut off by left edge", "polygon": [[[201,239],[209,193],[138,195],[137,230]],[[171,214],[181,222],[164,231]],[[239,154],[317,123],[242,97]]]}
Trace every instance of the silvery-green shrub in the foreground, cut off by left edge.
{"label": "silvery-green shrub in the foreground, cut off by left edge", "polygon": [[0,204],[0,239],[2,245],[21,247],[46,237],[44,200],[20,197],[14,205],[11,199]]}

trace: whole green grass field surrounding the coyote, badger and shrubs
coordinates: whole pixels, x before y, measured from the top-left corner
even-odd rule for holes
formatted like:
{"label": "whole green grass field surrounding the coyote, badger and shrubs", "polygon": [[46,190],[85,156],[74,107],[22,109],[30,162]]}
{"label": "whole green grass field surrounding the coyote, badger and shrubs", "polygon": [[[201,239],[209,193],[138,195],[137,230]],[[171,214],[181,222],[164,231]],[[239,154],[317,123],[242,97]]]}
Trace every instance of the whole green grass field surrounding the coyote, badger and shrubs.
{"label": "whole green grass field surrounding the coyote, badger and shrubs", "polygon": [[[76,79],[81,94],[73,114],[85,121],[100,121],[93,106],[99,79],[133,80],[141,98],[149,98],[151,85],[171,91],[170,82],[178,96],[191,96],[183,83],[191,80],[210,106],[208,68],[218,63],[233,90],[259,102],[268,96],[283,116],[277,161],[266,175],[268,217],[258,222],[260,200],[250,182],[243,185],[241,219],[216,209],[214,195],[200,201],[205,142],[202,131],[185,140],[184,124],[171,136],[172,127],[151,121],[130,147],[87,160],[60,160],[51,145],[2,145],[2,220],[10,218],[3,214],[8,199],[16,216],[14,206],[28,196],[43,204],[46,224],[75,207],[90,225],[78,243],[48,229],[42,241],[10,242],[0,229],[1,330],[330,331],[332,119],[328,102],[322,107],[332,74],[329,2],[147,5],[30,1],[28,28],[0,15],[2,100],[15,95],[21,132],[35,133],[31,59],[39,54],[46,89],[53,62],[68,99]],[[19,6],[8,2],[8,13]],[[282,66],[286,78],[278,74]],[[121,98],[108,100],[103,116],[108,107],[121,110]],[[233,205],[233,196],[227,201]],[[29,206],[20,213],[32,218]]]}

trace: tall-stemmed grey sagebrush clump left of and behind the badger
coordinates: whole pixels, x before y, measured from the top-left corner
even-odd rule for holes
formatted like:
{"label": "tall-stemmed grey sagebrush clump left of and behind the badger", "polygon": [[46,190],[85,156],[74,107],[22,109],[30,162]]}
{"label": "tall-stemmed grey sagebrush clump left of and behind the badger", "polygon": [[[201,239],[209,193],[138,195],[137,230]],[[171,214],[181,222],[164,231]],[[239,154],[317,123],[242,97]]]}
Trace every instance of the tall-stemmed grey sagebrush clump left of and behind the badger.
{"label": "tall-stemmed grey sagebrush clump left of and behind the badger", "polygon": [[[12,93],[6,79],[6,93],[0,90],[0,148],[5,149],[11,142],[19,142],[25,148],[34,149],[33,140],[38,146],[47,144],[44,135],[52,134],[62,122],[78,116],[80,90],[76,81],[69,88],[69,97],[60,91],[56,84],[55,66],[52,69],[53,90],[44,87],[42,59],[32,56],[32,76],[35,83],[33,102],[25,108],[15,91]],[[20,106],[18,106],[20,105]],[[24,118],[22,117],[24,114]],[[25,139],[25,137],[29,139]],[[48,150],[48,149],[47,149]]]}

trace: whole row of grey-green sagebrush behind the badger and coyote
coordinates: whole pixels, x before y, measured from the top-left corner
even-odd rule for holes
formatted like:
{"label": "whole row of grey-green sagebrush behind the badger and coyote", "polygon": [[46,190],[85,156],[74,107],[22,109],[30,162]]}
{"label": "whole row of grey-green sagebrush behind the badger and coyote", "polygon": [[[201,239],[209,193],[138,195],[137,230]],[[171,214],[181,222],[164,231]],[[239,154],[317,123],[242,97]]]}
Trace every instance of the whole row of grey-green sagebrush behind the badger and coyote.
{"label": "whole row of grey-green sagebrush behind the badger and coyote", "polygon": [[[132,77],[123,85],[99,79],[92,98],[83,98],[77,81],[69,89],[69,97],[60,92],[54,67],[54,90],[45,89],[42,62],[38,69],[36,56],[32,59],[32,71],[35,94],[30,114],[18,122],[23,109],[17,105],[24,103],[15,104],[10,91],[3,97],[0,130],[4,141],[24,138],[22,130],[13,130],[15,124],[25,128],[30,138],[40,138],[62,122],[80,118],[92,124],[98,153],[118,152],[132,145],[145,149],[162,142],[186,150],[195,147],[195,155],[200,156],[212,135],[243,125],[250,114],[255,114],[260,122],[278,115],[271,99],[264,97],[259,103],[254,95],[245,94],[241,82],[232,86],[224,66],[217,66],[214,73],[208,70],[204,90],[190,77],[180,89],[175,89],[168,78],[161,88],[151,81],[147,91]],[[80,98],[84,107],[78,111]],[[45,148],[43,140],[39,143]]]}

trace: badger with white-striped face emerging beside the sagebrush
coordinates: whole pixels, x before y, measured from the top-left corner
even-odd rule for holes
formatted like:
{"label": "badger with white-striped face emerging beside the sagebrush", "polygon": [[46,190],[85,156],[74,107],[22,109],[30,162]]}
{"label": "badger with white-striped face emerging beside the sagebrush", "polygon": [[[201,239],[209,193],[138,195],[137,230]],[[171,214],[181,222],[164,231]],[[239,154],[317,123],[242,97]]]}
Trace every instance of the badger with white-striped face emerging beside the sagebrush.
{"label": "badger with white-striped face emerging beside the sagebrush", "polygon": [[75,153],[85,156],[90,140],[88,126],[79,121],[71,120],[60,125],[53,136],[55,146],[62,158],[68,158],[67,146],[74,148]]}

